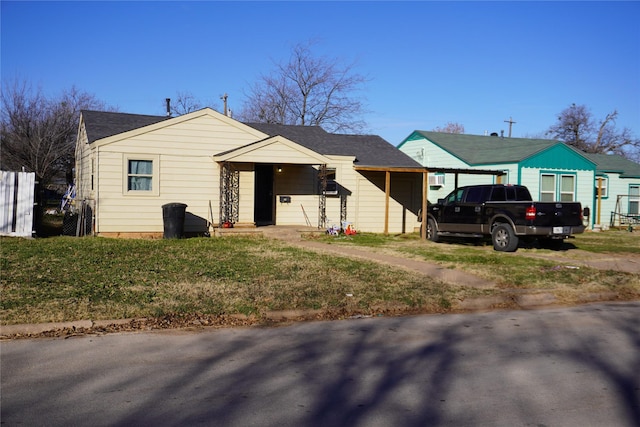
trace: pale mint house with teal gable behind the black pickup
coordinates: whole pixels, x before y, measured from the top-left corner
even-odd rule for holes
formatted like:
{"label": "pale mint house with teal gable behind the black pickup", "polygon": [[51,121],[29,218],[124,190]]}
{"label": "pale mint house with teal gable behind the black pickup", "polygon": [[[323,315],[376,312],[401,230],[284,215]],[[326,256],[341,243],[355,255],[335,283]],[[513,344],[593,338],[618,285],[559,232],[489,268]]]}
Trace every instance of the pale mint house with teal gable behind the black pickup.
{"label": "pale mint house with teal gable behind the black pickup", "polygon": [[[398,149],[427,169],[456,170],[429,173],[430,202],[445,197],[456,186],[519,184],[527,186],[537,200],[582,203],[592,212],[589,220],[593,224],[597,164],[561,141],[414,131]],[[503,174],[465,174],[464,170]]]}

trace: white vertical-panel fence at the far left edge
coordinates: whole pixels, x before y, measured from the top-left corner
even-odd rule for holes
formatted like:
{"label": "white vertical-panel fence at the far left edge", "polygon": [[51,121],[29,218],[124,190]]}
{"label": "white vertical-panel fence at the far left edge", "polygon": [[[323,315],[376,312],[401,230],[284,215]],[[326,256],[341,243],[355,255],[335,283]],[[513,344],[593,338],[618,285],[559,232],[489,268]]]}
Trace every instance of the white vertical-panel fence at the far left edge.
{"label": "white vertical-panel fence at the far left edge", "polygon": [[0,172],[0,235],[31,237],[36,175]]}

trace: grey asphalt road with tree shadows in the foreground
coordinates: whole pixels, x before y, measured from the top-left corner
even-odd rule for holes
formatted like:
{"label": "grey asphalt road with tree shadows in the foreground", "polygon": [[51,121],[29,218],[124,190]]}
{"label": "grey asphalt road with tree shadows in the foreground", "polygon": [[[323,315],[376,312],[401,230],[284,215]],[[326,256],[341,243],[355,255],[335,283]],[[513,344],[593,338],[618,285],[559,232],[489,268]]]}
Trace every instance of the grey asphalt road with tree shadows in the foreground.
{"label": "grey asphalt road with tree shadows in the foreground", "polygon": [[640,302],[4,341],[1,422],[639,426]]}

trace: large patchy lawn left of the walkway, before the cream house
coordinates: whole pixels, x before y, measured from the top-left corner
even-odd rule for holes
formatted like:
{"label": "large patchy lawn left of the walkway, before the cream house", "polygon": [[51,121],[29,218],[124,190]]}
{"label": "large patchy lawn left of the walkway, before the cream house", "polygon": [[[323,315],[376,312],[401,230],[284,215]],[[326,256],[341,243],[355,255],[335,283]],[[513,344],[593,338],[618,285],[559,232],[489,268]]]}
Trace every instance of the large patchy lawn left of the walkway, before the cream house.
{"label": "large patchy lawn left of the walkway, before the cream house", "polygon": [[2,324],[323,310],[445,311],[464,287],[264,238],[1,240]]}

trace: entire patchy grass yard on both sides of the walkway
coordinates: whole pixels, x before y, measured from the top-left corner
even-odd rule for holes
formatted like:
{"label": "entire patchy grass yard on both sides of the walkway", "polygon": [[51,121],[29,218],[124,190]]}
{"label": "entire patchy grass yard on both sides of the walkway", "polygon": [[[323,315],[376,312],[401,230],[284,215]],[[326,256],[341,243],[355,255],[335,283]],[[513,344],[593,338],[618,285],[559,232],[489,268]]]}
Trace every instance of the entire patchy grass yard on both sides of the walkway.
{"label": "entire patchy grass yard on both sides of the walkway", "polygon": [[571,268],[585,254],[640,253],[636,233],[595,234],[579,236],[564,251],[521,248],[515,254],[482,242],[424,242],[415,234],[321,238],[464,270],[497,283],[488,290],[260,237],[2,238],[0,316],[5,325],[163,316],[260,319],[286,310],[339,318],[447,312],[477,297],[508,300],[524,293],[550,294],[563,304],[640,298],[637,273]]}

